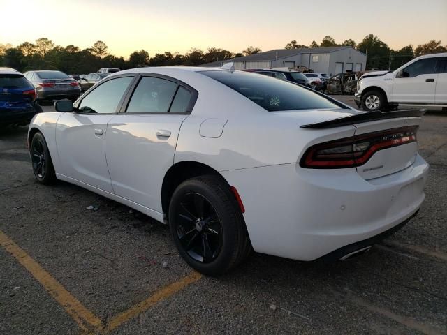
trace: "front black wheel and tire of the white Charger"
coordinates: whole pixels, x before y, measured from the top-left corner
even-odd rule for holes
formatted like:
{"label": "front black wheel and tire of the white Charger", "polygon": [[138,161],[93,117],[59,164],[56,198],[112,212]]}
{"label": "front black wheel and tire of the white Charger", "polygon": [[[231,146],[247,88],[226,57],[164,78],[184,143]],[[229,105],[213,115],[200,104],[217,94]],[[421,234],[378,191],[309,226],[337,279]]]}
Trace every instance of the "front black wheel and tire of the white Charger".
{"label": "front black wheel and tire of the white Charger", "polygon": [[53,163],[48,150],[47,142],[42,133],[37,132],[31,140],[29,147],[34,176],[41,184],[52,184],[56,180]]}

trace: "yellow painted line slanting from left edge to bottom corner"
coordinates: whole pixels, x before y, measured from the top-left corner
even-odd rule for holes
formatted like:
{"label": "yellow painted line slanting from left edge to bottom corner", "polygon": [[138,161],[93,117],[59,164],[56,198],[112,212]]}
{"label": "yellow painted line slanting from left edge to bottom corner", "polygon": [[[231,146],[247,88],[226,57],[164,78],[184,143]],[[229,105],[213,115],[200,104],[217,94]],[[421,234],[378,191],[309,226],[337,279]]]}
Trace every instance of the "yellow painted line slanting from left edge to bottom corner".
{"label": "yellow painted line slanting from left edge to bottom corner", "polygon": [[25,269],[27,269],[43,285],[50,295],[78,322],[79,327],[85,331],[91,329],[101,329],[101,320],[97,318],[80,301],[73,297],[56,279],[54,279],[41,265],[25,253],[20,246],[14,243],[6,234],[0,230],[0,246],[13,255]]}

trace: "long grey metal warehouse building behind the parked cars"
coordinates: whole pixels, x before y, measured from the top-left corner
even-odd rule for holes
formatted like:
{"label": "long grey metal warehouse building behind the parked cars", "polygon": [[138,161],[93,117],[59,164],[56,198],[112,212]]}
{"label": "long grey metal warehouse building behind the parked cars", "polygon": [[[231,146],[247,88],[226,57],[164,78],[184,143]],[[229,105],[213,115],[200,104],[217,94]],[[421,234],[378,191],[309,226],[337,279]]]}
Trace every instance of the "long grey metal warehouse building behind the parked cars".
{"label": "long grey metal warehouse building behind the parked cars", "polygon": [[365,70],[366,54],[353,47],[312,47],[301,49],[277,49],[226,61],[214,61],[202,66],[220,67],[229,61],[236,70],[253,68],[301,68],[315,73],[336,75],[346,71]]}

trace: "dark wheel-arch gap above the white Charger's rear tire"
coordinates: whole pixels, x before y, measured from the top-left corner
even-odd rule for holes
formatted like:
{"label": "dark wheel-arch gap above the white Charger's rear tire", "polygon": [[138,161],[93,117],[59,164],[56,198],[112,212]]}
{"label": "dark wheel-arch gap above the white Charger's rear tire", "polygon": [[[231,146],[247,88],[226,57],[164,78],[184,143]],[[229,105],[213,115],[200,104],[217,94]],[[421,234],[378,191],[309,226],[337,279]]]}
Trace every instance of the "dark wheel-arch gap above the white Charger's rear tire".
{"label": "dark wheel-arch gap above the white Charger's rear tire", "polygon": [[[204,163],[197,161],[181,161],[171,166],[166,172],[165,177],[163,178],[163,183],[161,184],[161,208],[163,213],[168,215],[170,199],[173,196],[175,188],[177,188],[179,184],[182,184],[186,179],[205,174],[217,176],[228,184],[228,181],[226,181],[222,174]],[[230,187],[230,184],[228,184],[228,187]]]}

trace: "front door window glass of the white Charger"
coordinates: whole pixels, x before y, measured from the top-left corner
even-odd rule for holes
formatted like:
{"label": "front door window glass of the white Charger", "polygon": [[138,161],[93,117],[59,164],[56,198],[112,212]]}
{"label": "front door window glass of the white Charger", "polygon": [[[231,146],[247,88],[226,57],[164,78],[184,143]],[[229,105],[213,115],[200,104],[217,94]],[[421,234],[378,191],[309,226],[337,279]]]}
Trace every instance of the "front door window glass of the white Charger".
{"label": "front door window glass of the white Charger", "polygon": [[115,113],[133,77],[121,77],[104,82],[82,99],[79,110],[84,113]]}

